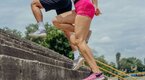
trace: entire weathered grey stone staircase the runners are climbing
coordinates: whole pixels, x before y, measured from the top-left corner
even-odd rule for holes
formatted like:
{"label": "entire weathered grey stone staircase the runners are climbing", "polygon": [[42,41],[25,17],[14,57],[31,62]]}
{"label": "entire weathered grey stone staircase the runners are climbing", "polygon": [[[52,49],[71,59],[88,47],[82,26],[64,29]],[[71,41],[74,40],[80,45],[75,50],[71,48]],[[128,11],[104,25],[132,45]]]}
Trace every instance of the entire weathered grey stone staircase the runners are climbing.
{"label": "entire weathered grey stone staircase the runners are climbing", "polygon": [[71,68],[65,56],[0,29],[0,80],[82,80],[90,73]]}

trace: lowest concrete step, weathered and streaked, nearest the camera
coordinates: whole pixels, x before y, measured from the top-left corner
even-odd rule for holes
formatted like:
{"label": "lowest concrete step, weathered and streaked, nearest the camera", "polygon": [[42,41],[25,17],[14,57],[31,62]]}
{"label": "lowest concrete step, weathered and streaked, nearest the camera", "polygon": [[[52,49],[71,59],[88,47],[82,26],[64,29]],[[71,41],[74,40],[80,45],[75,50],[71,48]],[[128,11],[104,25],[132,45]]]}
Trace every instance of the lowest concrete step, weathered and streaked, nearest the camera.
{"label": "lowest concrete step, weathered and streaked, nearest the camera", "polygon": [[82,80],[88,72],[0,55],[0,80]]}

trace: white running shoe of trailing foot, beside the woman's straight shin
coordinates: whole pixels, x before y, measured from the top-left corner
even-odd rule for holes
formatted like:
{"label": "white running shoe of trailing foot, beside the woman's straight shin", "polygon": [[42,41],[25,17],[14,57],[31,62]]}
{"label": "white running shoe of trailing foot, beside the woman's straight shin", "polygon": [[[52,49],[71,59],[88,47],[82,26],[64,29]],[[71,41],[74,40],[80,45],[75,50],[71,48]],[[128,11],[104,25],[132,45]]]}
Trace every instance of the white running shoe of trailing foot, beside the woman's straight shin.
{"label": "white running shoe of trailing foot, beside the woman's straight shin", "polygon": [[83,57],[79,57],[78,59],[74,60],[72,69],[73,70],[79,69],[82,66],[84,61],[85,59]]}

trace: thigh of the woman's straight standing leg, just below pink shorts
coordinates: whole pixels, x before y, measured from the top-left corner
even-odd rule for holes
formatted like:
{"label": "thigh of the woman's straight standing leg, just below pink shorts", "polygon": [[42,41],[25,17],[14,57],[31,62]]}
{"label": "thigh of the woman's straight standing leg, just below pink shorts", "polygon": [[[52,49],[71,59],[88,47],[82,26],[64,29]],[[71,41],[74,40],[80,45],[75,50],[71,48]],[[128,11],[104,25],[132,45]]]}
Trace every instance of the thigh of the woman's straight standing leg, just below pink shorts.
{"label": "thigh of the woman's straight standing leg, just below pink shorts", "polygon": [[85,41],[89,32],[92,19],[87,16],[77,15],[75,19],[75,37]]}

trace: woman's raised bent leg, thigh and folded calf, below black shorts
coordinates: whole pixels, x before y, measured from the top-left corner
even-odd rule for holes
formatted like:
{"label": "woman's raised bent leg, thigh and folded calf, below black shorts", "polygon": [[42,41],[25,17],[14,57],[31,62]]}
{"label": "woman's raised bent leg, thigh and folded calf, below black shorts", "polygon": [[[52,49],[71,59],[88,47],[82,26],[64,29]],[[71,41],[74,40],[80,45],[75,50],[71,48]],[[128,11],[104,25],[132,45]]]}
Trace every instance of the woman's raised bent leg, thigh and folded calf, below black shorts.
{"label": "woman's raised bent leg, thigh and folded calf, below black shorts", "polygon": [[65,12],[60,14],[54,18],[52,21],[53,24],[63,31],[74,32],[74,20],[75,20],[76,13],[75,11]]}

